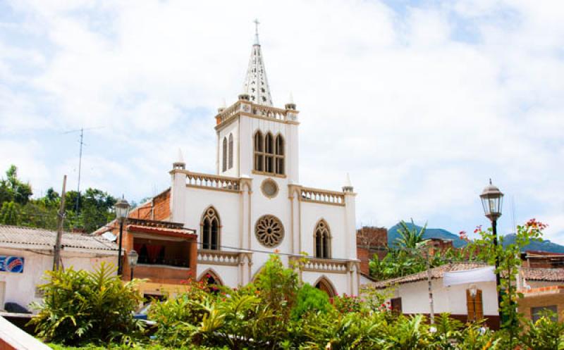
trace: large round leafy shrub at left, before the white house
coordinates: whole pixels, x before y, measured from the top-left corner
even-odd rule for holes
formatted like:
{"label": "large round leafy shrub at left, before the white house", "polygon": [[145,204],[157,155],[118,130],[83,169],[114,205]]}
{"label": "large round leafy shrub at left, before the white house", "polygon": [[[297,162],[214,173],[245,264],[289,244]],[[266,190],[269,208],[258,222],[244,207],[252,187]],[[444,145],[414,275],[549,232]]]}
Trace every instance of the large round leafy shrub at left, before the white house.
{"label": "large round leafy shrub at left, before the white house", "polygon": [[140,335],[142,323],[133,311],[142,301],[137,280],[123,283],[112,265],[102,263],[93,272],[47,271],[49,282],[39,313],[30,320],[37,335],[50,342],[127,342]]}

